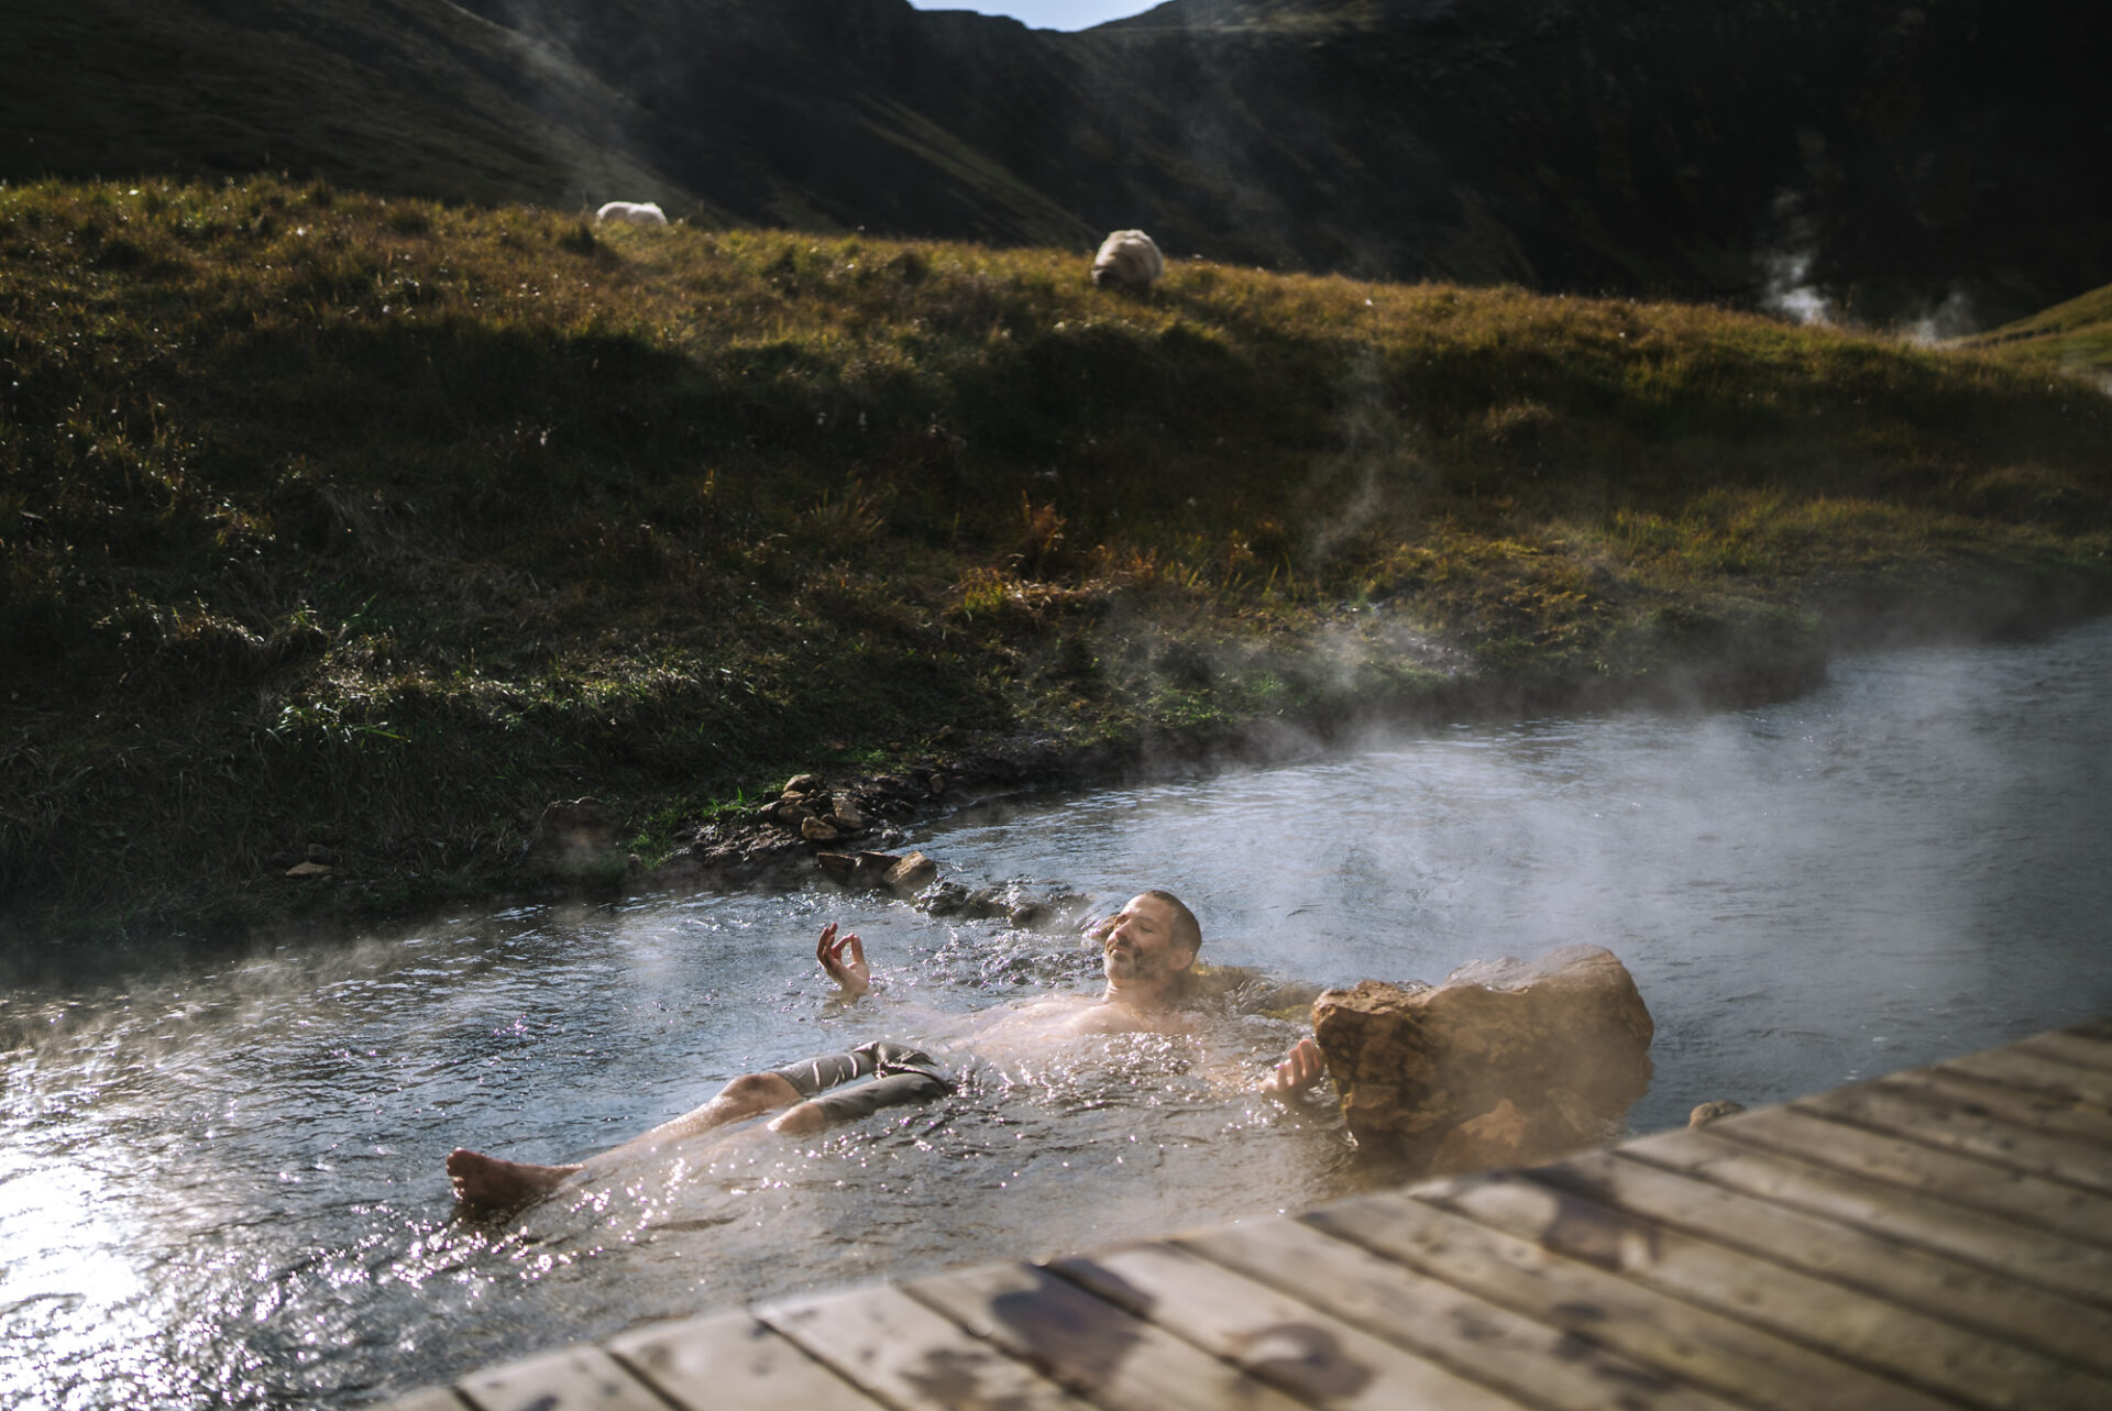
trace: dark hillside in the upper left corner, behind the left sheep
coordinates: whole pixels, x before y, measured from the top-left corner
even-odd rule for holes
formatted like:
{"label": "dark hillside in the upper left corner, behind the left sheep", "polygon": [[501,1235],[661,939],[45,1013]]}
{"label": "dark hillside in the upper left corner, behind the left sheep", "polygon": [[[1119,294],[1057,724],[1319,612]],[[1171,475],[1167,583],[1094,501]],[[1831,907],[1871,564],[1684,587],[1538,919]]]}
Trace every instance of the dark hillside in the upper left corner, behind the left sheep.
{"label": "dark hillside in the upper left corner, behind the left sheep", "polygon": [[446,0],[0,6],[0,177],[319,173],[572,205],[682,190],[621,91]]}

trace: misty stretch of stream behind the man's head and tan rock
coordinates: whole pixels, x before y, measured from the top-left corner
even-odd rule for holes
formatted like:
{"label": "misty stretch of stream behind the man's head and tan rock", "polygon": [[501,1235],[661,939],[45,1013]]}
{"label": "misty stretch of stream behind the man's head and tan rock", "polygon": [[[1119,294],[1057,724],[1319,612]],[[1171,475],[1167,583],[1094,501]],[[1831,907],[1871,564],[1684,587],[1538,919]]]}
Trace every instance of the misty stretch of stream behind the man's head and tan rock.
{"label": "misty stretch of stream behind the man's head and tan rock", "polygon": [[1840,665],[1751,712],[1373,739],[925,847],[1088,889],[1172,879],[1206,955],[1320,984],[1609,946],[1658,1018],[1635,1122],[1675,1126],[2112,1008],[2089,680],[2112,684],[2104,623]]}

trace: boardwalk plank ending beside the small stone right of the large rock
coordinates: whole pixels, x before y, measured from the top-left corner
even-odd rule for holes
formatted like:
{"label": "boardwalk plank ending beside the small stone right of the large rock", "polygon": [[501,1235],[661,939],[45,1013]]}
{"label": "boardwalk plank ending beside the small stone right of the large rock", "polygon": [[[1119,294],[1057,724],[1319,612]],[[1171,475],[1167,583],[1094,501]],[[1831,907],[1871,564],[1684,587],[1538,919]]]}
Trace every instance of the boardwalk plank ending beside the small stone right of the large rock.
{"label": "boardwalk plank ending beside the small stone right of the large rock", "polygon": [[[1622,1160],[1687,1172],[1806,1215],[1962,1259],[2002,1278],[2112,1307],[2112,1250],[2095,1244],[1747,1147],[1713,1128],[1645,1136],[1618,1151]],[[2112,1337],[2104,1346],[2106,1356],[2112,1356]]]}

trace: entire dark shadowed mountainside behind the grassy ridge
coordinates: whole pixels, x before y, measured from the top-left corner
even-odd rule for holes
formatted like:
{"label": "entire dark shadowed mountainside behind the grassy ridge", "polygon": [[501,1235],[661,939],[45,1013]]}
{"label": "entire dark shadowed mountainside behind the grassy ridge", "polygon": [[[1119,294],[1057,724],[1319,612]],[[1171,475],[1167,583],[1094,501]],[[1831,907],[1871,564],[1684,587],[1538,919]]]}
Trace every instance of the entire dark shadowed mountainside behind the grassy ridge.
{"label": "entire dark shadowed mountainside behind the grassy ridge", "polygon": [[[89,44],[87,15],[135,38]],[[76,42],[6,84],[38,146],[0,163],[993,243],[1143,224],[1219,260],[1869,319],[2112,279],[2112,55],[2055,0],[1172,0],[1086,34],[904,0],[348,15],[27,0],[0,30]]]}

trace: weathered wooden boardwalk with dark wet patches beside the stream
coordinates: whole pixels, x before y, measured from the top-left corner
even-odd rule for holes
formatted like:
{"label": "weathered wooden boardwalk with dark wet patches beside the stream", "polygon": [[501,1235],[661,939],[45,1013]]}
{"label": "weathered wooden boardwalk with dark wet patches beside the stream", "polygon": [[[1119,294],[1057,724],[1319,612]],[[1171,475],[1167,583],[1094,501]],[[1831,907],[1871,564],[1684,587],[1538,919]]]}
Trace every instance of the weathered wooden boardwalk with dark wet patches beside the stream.
{"label": "weathered wooden boardwalk with dark wet patches beside the stream", "polygon": [[760,1303],[395,1411],[2112,1407],[2112,1018],[1521,1172]]}

